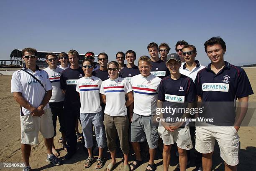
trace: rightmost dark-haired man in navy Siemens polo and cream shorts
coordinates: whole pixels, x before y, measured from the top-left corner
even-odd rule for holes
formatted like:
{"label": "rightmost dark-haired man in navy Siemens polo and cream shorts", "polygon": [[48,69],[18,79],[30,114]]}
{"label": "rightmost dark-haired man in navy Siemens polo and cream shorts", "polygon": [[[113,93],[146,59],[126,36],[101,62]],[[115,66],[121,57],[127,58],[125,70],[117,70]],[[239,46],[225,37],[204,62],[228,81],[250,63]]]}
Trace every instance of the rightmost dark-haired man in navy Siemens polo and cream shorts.
{"label": "rightmost dark-haired man in navy Siemens polo and cream shorts", "polygon": [[[225,170],[235,171],[239,149],[237,132],[248,109],[248,96],[253,94],[253,90],[246,72],[224,61],[226,45],[222,38],[212,37],[204,46],[211,63],[197,73],[195,80],[198,104],[202,102],[201,107],[204,107],[196,121],[195,149],[202,153],[203,170],[210,171],[217,140]],[[241,107],[237,114],[234,107],[236,99],[238,107]],[[204,122],[199,118],[204,118]]]}

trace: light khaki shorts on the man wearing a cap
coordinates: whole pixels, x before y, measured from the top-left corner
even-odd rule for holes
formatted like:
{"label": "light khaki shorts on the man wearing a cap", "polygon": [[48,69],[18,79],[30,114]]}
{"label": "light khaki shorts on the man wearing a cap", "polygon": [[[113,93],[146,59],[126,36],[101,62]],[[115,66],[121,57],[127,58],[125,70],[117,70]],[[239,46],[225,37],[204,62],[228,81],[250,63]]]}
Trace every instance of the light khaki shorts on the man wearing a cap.
{"label": "light khaki shorts on the man wearing a cap", "polygon": [[175,131],[167,131],[164,126],[159,123],[158,134],[163,139],[164,145],[168,146],[177,143],[180,149],[190,150],[193,148],[189,126],[178,128]]}

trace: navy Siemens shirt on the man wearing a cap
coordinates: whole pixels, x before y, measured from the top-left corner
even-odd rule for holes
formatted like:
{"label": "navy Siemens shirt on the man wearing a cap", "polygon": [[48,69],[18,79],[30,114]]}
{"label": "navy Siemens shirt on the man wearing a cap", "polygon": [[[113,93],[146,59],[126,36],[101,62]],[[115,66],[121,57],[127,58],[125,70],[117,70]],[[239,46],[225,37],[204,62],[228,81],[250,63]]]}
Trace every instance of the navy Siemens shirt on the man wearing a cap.
{"label": "navy Siemens shirt on the man wearing a cap", "polygon": [[180,118],[184,114],[184,110],[181,109],[186,109],[189,102],[195,102],[195,84],[190,77],[183,74],[177,80],[170,76],[165,77],[161,80],[157,91],[158,100],[163,101],[163,108],[180,108],[179,111],[164,114],[165,118]]}

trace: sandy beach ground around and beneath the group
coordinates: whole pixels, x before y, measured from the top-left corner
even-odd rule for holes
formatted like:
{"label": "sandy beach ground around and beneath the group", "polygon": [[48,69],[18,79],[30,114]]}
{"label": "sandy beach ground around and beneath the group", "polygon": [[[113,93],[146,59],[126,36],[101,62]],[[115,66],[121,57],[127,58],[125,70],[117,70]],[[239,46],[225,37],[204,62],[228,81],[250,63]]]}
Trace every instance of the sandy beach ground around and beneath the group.
{"label": "sandy beach ground around and beneath the group", "polygon": [[[256,93],[256,68],[244,68],[248,77],[250,79],[251,85],[253,87],[254,93]],[[3,71],[3,70],[1,70]],[[12,72],[12,71],[4,71]],[[1,72],[0,72],[1,73]],[[14,101],[13,94],[10,93],[10,81],[11,75],[0,75],[0,170],[21,170],[20,168],[4,168],[3,163],[23,163],[21,150],[20,150],[20,106]],[[250,102],[256,102],[256,94],[253,94],[249,98]],[[58,123],[57,123],[58,124]],[[239,151],[239,165],[238,170],[255,170],[256,162],[256,114],[252,116],[250,125],[243,126],[240,128],[238,135],[240,136],[240,151]],[[81,127],[79,127],[81,130]],[[57,125],[57,130],[59,130],[59,124]],[[56,149],[60,151],[60,158],[63,159],[65,154],[67,154],[62,146],[58,143],[58,139],[61,136],[60,132],[57,131],[57,136],[54,138],[54,143]],[[39,133],[40,144],[32,146],[30,165],[33,170],[50,170],[50,171],[67,171],[67,170],[84,170],[83,162],[87,158],[87,153],[83,151],[81,142],[77,144],[77,153],[69,161],[64,161],[60,166],[54,166],[53,164],[46,163],[46,147],[44,146],[44,141],[42,135]],[[217,144],[217,143],[216,143]],[[213,156],[213,169],[216,171],[224,170],[223,160],[220,158],[220,150],[215,144],[215,152]],[[172,157],[170,162],[169,170],[172,171],[177,167],[179,162],[178,158],[175,156],[176,147],[172,148]],[[120,153],[117,154],[118,164],[115,167],[115,171],[121,170],[123,167],[122,156]],[[110,163],[110,154],[105,151],[106,164],[103,169]],[[133,161],[134,155],[129,157],[129,161]],[[191,164],[188,166],[188,171],[195,169],[193,153],[191,154]],[[141,165],[137,170],[145,170],[148,159],[144,159],[143,165]],[[161,151],[157,151],[155,157],[155,164],[157,170],[163,170],[163,162]],[[96,170],[95,163],[85,170]]]}

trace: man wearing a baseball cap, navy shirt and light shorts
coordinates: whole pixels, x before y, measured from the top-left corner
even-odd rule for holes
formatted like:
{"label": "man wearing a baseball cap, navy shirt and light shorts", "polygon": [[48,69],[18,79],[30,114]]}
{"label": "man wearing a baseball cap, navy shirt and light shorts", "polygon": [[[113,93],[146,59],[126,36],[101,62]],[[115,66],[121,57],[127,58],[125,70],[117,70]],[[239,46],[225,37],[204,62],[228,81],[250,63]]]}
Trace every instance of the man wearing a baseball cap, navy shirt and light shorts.
{"label": "man wearing a baseball cap, navy shirt and light shorts", "polygon": [[161,119],[172,120],[156,119],[156,121],[159,121],[158,133],[164,143],[164,171],[168,171],[171,158],[170,150],[174,143],[177,143],[178,146],[180,170],[185,171],[187,166],[186,150],[192,149],[193,146],[188,124],[186,124],[186,121],[179,121],[177,119],[189,119],[187,109],[194,106],[195,85],[191,78],[179,73],[181,60],[178,54],[172,53],[168,55],[166,66],[171,76],[162,79],[157,88],[158,107],[160,109],[172,108],[177,110],[176,112],[172,110],[173,112],[166,111],[160,114]]}

